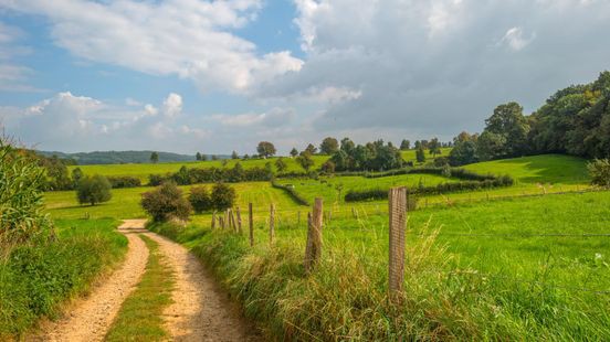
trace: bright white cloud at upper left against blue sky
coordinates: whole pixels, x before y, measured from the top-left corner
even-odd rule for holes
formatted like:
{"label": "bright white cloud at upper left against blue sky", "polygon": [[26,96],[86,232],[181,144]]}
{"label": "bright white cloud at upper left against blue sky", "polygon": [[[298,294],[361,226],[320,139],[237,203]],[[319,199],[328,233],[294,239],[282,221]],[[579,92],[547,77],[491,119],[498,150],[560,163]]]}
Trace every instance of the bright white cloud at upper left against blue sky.
{"label": "bright white cloud at upper left against blue sky", "polygon": [[259,55],[232,33],[261,7],[260,0],[0,0],[0,8],[48,18],[56,44],[82,58],[238,93],[303,63],[287,51]]}

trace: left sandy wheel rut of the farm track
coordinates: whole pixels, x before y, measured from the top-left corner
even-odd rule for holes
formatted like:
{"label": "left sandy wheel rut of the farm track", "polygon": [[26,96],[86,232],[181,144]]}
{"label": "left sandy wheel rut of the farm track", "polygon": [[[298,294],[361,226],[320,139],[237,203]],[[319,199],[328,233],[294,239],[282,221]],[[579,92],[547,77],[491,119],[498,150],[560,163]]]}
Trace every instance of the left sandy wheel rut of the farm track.
{"label": "left sandy wheel rut of the farm track", "polygon": [[69,316],[43,327],[45,333],[31,340],[92,342],[104,339],[120,304],[138,284],[148,260],[148,248],[137,235],[144,231],[144,225],[139,221],[126,221],[119,231],[129,241],[123,266],[104,279],[87,298],[77,302]]}

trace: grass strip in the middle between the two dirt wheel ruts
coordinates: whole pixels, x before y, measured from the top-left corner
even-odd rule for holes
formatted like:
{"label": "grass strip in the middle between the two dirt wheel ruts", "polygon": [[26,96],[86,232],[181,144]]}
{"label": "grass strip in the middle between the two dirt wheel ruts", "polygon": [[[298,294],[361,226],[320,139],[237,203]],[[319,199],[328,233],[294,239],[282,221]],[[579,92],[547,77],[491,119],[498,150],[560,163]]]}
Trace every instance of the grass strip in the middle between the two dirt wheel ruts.
{"label": "grass strip in the middle between the two dirt wheel ruts", "polygon": [[137,289],[125,300],[106,341],[165,341],[162,311],[171,303],[173,275],[159,253],[159,245],[140,235],[150,250],[146,271]]}

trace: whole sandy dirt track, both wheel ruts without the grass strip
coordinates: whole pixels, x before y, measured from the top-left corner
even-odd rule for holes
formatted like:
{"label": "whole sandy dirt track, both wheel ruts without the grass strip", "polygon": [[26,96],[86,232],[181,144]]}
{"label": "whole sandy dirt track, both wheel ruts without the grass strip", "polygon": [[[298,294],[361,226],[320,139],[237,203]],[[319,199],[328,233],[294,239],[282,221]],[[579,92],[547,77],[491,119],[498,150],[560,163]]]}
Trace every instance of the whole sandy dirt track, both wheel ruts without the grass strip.
{"label": "whole sandy dirt track, both wheel ruts without the grass strip", "polygon": [[183,246],[144,229],[144,220],[127,220],[119,231],[129,239],[125,264],[72,312],[48,324],[44,341],[103,341],[120,304],[144,274],[148,248],[137,234],[159,244],[165,260],[176,275],[173,303],[164,312],[164,324],[172,341],[259,341],[256,330],[239,308],[218,288],[201,263]]}

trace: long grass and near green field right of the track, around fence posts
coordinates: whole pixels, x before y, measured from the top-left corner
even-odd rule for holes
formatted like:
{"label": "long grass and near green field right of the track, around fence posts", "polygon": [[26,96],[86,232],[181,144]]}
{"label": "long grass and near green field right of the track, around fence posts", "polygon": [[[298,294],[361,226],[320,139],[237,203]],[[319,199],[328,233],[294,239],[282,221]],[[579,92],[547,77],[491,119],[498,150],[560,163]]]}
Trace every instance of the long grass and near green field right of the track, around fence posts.
{"label": "long grass and near green field right of the track, around fence posts", "polygon": [[304,224],[280,226],[273,247],[257,228],[254,248],[199,226],[151,228],[189,246],[277,340],[608,340],[610,238],[576,235],[607,233],[609,203],[588,193],[414,212],[400,306],[386,296],[383,215],[329,223],[311,276]]}

